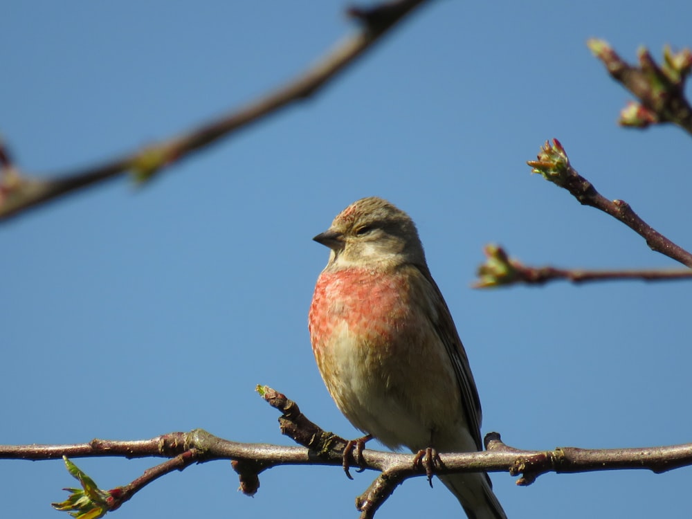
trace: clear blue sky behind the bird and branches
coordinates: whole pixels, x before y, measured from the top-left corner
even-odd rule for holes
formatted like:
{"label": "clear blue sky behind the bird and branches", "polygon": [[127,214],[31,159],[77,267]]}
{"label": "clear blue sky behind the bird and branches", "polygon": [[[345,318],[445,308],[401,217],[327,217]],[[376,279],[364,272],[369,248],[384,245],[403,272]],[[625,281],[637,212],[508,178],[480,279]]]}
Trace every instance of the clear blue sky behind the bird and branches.
{"label": "clear blue sky behind the bird and branches", "polygon": [[[20,167],[69,172],[179,133],[302,71],[351,30],[343,1],[15,2],[3,8],[0,131]],[[691,284],[475,291],[482,246],[531,264],[676,266],[525,161],[557,137],[583,176],[692,247],[692,142],[617,127],[630,95],[585,46],[632,60],[689,46],[689,0],[440,1],[315,100],[189,158],[142,190],[118,180],[0,226],[0,443],[140,439],[206,428],[291,444],[268,384],[356,431],[313,361],[307,309],[348,203],[390,199],[419,226],[466,345],[483,432],[519,448],[692,441]],[[151,460],[78,461],[103,487]],[[374,473],[275,468],[255,498],[225,462],[165,477],[114,517],[354,518]],[[493,475],[510,518],[689,516],[692,471]],[[58,518],[61,462],[0,462],[3,516]],[[409,480],[381,519],[461,517]],[[66,517],[66,516],[63,516]]]}

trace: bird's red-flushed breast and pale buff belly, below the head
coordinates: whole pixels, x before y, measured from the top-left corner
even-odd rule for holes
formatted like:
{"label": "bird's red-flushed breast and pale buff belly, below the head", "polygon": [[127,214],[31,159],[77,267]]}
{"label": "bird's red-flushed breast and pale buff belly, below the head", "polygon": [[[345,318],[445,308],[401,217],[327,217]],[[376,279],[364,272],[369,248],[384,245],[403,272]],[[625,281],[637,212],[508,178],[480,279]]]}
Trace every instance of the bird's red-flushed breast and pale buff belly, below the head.
{"label": "bird's red-flushed breast and pale buff belly, below the head", "polygon": [[453,448],[464,420],[431,293],[406,265],[327,270],[315,287],[309,328],[322,379],[356,428],[392,448],[425,448],[432,431]]}

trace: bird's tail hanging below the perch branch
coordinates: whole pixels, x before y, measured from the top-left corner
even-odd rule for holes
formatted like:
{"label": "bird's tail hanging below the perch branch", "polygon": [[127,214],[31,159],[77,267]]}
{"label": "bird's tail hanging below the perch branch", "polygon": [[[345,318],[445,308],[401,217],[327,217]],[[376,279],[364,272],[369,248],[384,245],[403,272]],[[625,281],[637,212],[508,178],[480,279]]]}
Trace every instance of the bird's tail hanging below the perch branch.
{"label": "bird's tail hanging below the perch branch", "polygon": [[439,476],[464,507],[468,519],[507,519],[486,473]]}

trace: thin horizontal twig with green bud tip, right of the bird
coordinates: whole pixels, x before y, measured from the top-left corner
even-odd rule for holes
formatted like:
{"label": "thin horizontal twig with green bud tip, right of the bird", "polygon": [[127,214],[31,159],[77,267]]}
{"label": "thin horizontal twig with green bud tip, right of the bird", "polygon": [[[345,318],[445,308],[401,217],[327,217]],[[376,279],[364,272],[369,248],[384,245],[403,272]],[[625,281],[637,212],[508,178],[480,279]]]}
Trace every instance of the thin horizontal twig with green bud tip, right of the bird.
{"label": "thin horizontal twig with green bud tip, right of the bird", "polygon": [[504,248],[497,245],[486,245],[483,249],[487,260],[478,267],[478,280],[473,284],[475,289],[487,289],[511,284],[544,284],[554,280],[567,280],[573,283],[589,281],[616,280],[692,280],[692,269],[677,270],[645,269],[630,271],[590,271],[583,268],[555,268],[553,266],[528,266],[509,257]]}

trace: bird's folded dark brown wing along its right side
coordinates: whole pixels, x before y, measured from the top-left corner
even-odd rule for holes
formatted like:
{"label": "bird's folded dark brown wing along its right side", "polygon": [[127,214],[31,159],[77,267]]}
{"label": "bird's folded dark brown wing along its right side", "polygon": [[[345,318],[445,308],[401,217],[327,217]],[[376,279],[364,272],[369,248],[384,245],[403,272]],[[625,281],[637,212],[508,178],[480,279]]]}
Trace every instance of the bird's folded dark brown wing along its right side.
{"label": "bird's folded dark brown wing along its right side", "polygon": [[464,406],[464,412],[468,420],[468,430],[471,432],[471,435],[473,435],[478,450],[483,450],[480,437],[480,424],[482,420],[480,399],[478,397],[475,381],[473,381],[471,367],[468,365],[468,357],[464,351],[464,345],[462,345],[462,340],[459,338],[459,333],[454,325],[447,304],[442,297],[442,293],[439,291],[439,287],[437,283],[435,283],[435,280],[432,279],[432,275],[430,275],[430,270],[427,266],[417,265],[417,268],[421,271],[426,280],[428,280],[430,286],[432,286],[432,290],[435,291],[437,295],[436,298],[433,298],[436,306],[435,316],[433,318],[436,317],[437,322],[433,322],[432,324],[442,344],[444,344],[450,363],[457,376],[457,384],[459,385],[459,391],[462,395],[462,406]]}

